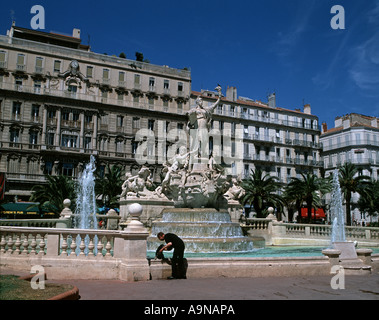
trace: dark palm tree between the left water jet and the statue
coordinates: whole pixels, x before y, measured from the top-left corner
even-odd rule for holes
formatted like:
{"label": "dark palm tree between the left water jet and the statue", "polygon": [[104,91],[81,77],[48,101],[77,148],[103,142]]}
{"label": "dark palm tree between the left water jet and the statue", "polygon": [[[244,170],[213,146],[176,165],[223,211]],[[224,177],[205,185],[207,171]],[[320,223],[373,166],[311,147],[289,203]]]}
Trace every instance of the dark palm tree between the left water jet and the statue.
{"label": "dark palm tree between the left water jet and the statue", "polygon": [[108,164],[104,177],[96,172],[95,193],[100,196],[101,203],[106,207],[115,208],[119,205],[118,198],[121,195],[123,184],[121,171],[119,166],[110,167]]}

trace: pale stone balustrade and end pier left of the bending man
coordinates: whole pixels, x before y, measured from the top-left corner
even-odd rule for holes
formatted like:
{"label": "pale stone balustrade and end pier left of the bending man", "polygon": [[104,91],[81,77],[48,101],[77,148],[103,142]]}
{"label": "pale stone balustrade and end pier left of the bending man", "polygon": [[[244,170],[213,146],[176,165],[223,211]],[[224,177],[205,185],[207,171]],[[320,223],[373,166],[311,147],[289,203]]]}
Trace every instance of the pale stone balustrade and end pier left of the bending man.
{"label": "pale stone balustrade and end pier left of the bending man", "polygon": [[40,265],[55,279],[148,280],[148,235],[139,226],[125,231],[2,226],[0,265],[21,271]]}

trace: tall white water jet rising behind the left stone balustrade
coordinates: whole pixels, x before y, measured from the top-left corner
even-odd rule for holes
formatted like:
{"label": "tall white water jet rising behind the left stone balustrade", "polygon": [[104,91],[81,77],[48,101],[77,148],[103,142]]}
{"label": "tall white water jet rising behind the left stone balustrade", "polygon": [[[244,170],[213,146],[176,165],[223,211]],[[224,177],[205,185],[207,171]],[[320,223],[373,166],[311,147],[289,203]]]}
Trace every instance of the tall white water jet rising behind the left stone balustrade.
{"label": "tall white water jet rising behind the left stone balustrade", "polygon": [[[95,158],[91,155],[90,162],[86,165],[82,174],[78,179],[78,185],[76,188],[76,209],[74,227],[77,229],[97,229],[96,219],[96,197],[95,197]],[[80,235],[76,238],[77,254],[80,252],[80,242],[82,241]],[[95,254],[97,248],[97,238],[95,242]],[[89,237],[84,239],[85,250],[84,253],[88,253]]]}

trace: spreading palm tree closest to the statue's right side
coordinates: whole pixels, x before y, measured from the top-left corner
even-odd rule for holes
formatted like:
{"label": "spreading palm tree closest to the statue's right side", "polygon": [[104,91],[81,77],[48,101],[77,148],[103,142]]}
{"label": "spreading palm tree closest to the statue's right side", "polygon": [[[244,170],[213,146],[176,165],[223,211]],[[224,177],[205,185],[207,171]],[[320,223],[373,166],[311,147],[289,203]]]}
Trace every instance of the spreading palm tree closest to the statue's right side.
{"label": "spreading palm tree closest to the statue's right side", "polygon": [[269,174],[263,175],[262,170],[251,170],[249,179],[242,184],[245,189],[245,195],[241,202],[243,205],[253,206],[257,213],[257,218],[264,218],[265,208],[269,206],[283,206],[283,199],[276,194],[280,190],[280,184],[277,177]]}

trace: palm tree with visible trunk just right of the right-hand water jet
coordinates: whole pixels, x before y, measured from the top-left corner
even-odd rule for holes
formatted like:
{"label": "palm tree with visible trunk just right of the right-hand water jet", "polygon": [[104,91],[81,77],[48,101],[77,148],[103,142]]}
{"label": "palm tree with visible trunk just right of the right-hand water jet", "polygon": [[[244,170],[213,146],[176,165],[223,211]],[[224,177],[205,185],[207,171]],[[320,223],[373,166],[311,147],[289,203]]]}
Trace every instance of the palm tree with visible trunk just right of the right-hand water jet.
{"label": "palm tree with visible trunk just right of the right-hand water jet", "polygon": [[370,180],[370,177],[358,175],[357,167],[346,162],[339,168],[339,182],[346,203],[346,224],[351,226],[351,194],[358,192],[362,185]]}

